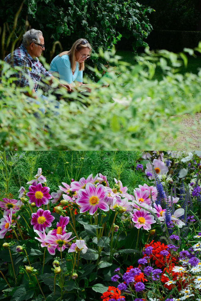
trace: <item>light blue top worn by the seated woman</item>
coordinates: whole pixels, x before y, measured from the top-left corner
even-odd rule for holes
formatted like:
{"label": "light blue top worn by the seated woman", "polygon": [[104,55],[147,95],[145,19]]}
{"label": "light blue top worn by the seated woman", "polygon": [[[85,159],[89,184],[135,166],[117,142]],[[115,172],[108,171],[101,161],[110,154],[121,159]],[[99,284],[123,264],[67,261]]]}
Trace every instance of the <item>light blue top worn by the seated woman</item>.
{"label": "light blue top worn by the seated woman", "polygon": [[69,56],[67,54],[55,56],[50,64],[49,71],[51,73],[58,72],[60,80],[62,79],[68,84],[71,84],[75,80],[77,82],[82,82],[82,71],[79,71],[79,63],[76,62],[76,69],[73,74],[70,66]]}

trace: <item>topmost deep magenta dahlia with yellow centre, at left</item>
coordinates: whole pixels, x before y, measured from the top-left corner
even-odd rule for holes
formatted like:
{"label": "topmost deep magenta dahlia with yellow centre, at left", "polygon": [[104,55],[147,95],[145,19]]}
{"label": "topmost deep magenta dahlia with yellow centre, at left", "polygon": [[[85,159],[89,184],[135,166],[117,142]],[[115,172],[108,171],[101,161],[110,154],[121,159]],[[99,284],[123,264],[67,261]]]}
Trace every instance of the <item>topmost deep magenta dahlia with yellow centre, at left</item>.
{"label": "topmost deep magenta dahlia with yellow centre, at left", "polygon": [[48,193],[49,187],[42,187],[41,183],[29,186],[29,192],[26,195],[29,197],[29,203],[35,202],[36,207],[48,204],[48,200],[51,199],[51,195]]}

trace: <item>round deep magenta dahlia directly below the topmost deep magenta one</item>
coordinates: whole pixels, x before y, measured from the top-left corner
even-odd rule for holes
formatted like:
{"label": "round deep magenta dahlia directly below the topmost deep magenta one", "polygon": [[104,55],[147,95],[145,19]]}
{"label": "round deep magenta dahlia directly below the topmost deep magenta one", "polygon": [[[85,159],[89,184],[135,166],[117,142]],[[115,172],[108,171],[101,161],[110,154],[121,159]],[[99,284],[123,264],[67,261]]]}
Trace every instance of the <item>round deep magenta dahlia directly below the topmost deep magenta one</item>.
{"label": "round deep magenta dahlia directly below the topmost deep magenta one", "polygon": [[43,231],[46,227],[52,226],[51,222],[55,219],[51,215],[50,210],[43,210],[39,208],[36,213],[31,214],[31,225],[33,225],[34,230]]}

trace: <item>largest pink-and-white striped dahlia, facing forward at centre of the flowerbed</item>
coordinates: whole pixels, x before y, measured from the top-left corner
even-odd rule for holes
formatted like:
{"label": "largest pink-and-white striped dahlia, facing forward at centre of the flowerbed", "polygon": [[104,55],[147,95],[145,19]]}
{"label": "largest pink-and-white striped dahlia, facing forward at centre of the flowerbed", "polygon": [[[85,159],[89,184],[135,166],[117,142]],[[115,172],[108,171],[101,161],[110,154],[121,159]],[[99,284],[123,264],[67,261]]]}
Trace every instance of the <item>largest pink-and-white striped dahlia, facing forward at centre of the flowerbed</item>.
{"label": "largest pink-and-white striped dahlia, facing forward at centre of the flowerbed", "polygon": [[89,210],[89,214],[93,215],[98,208],[103,211],[109,211],[109,206],[104,202],[107,190],[103,185],[95,187],[91,183],[86,184],[86,189],[80,189],[79,198],[76,203],[81,207],[79,212],[83,213]]}

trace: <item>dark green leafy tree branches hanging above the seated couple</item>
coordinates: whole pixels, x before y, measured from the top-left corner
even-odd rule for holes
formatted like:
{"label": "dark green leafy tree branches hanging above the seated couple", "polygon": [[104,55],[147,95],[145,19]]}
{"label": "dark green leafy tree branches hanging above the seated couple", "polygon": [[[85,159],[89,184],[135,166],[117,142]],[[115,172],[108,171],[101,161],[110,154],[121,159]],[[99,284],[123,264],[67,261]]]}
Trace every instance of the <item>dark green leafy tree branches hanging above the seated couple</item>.
{"label": "dark green leafy tree branches hanging above the seated couple", "polygon": [[[12,28],[16,10],[21,1],[6,3],[6,13],[2,21]],[[135,37],[133,50],[146,46],[144,38],[152,30],[149,15],[153,9],[140,5],[137,1],[108,0],[25,0],[18,20],[18,28],[25,26],[28,19],[32,28],[43,32],[46,50],[52,50],[52,44],[60,41],[62,48],[68,50],[73,42],[81,37],[87,39],[97,52],[111,49],[121,40]],[[60,50],[57,50],[60,51]],[[50,54],[50,60],[53,53]],[[3,59],[3,57],[2,57]]]}

